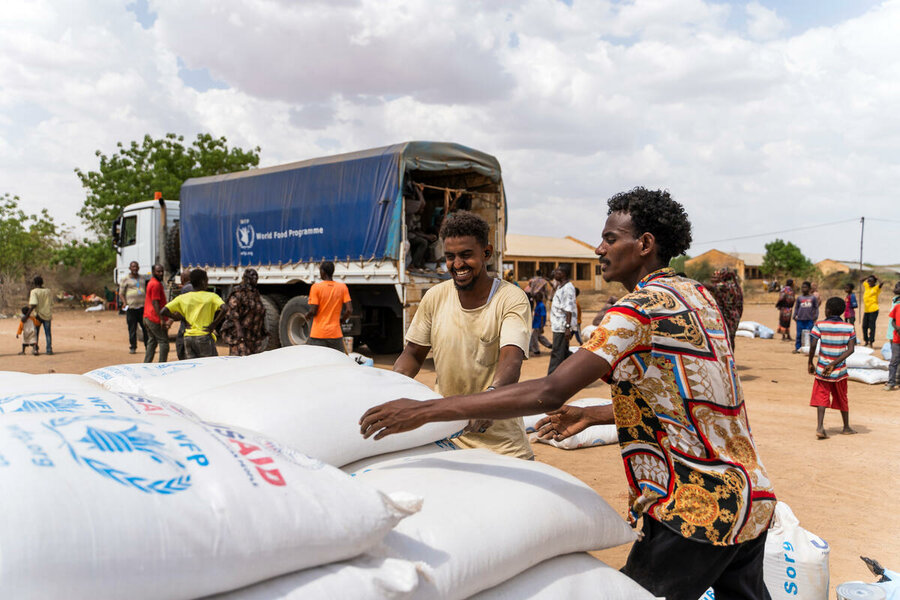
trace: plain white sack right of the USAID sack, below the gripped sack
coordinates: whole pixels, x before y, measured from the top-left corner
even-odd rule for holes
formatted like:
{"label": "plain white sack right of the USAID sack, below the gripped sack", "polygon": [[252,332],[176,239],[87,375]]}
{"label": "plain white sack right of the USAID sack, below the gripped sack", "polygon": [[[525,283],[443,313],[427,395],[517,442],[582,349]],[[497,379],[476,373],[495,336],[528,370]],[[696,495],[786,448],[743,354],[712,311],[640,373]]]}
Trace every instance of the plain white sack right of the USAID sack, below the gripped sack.
{"label": "plain white sack right of the USAID sack, below the gripped sack", "polygon": [[415,598],[468,598],[537,563],[635,539],[595,491],[550,465],[457,450],[370,465],[356,479],[406,490],[422,510],[385,537],[389,555],[432,567]]}

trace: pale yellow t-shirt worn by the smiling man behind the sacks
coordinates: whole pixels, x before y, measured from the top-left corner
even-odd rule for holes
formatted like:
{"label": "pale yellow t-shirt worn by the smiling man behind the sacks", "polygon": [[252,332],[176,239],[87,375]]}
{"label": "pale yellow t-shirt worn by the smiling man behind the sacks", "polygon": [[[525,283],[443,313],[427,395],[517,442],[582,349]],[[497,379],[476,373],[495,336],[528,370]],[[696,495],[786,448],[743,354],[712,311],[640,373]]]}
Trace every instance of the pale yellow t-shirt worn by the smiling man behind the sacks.
{"label": "pale yellow t-shirt worn by the smiling man behind the sacks", "polygon": [[[425,293],[406,341],[431,346],[438,391],[445,396],[476,394],[494,380],[500,348],[518,346],[528,356],[531,307],[518,286],[501,281],[484,306],[465,309],[453,281]],[[517,458],[533,458],[521,418],[502,419],[484,433],[467,433],[453,442],[463,448],[488,448]]]}

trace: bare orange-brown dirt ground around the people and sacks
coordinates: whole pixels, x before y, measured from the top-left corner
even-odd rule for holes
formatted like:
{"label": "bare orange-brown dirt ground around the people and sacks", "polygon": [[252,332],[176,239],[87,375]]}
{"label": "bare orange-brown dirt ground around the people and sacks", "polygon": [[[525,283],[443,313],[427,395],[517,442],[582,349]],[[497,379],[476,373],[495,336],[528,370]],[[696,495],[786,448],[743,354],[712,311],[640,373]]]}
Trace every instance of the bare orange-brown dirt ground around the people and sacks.
{"label": "bare orange-brown dirt ground around the people and sacks", "polygon": [[[878,348],[887,327],[887,295],[882,294]],[[590,315],[586,312],[586,321]],[[777,324],[770,303],[746,306],[744,318],[773,329]],[[125,317],[111,312],[57,312],[52,330],[54,356],[17,356],[15,329],[15,319],[0,320],[0,370],[83,373],[142,359],[141,354],[128,354]],[[43,343],[42,339],[42,349]],[[737,339],[736,358],[750,423],[775,492],[806,529],[831,545],[832,590],[845,581],[873,580],[860,555],[900,570],[900,502],[891,492],[900,481],[900,392],[850,382],[851,425],[859,433],[839,435],[840,415],[829,411],[826,428],[831,437],[817,440],[806,357],[791,350],[793,343],[779,339]],[[174,355],[173,344],[171,358]],[[389,368],[393,358],[378,356],[376,363]],[[523,379],[545,374],[547,362],[546,354],[528,360]],[[418,379],[434,384],[430,361]],[[577,397],[609,397],[609,389],[597,383]],[[625,475],[617,447],[566,451],[538,444],[535,453],[539,460],[588,483],[624,516]],[[627,554],[628,547],[596,553],[616,568],[624,564]]]}

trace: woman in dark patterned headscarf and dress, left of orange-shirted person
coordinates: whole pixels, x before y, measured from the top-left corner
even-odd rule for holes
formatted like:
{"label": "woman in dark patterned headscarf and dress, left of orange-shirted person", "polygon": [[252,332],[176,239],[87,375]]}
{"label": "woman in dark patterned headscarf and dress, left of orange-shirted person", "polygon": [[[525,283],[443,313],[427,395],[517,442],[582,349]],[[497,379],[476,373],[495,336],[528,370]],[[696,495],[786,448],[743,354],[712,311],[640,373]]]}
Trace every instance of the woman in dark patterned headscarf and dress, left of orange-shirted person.
{"label": "woman in dark patterned headscarf and dress, left of orange-shirted person", "polygon": [[256,289],[258,279],[256,269],[245,270],[240,285],[235,286],[225,303],[228,313],[222,325],[222,339],[231,356],[262,352],[268,343],[266,308]]}

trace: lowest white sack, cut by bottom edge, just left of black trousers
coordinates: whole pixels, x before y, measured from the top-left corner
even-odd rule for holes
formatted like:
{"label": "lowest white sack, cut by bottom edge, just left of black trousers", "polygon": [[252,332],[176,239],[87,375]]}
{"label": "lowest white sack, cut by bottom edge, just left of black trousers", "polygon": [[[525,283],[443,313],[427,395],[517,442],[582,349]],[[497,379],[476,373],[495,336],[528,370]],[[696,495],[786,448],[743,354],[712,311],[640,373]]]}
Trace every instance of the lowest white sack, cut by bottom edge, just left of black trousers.
{"label": "lowest white sack, cut by bottom edge, just left of black trousers", "polygon": [[590,554],[545,560],[471,600],[654,600],[627,575]]}

